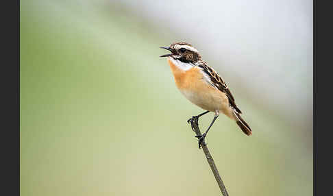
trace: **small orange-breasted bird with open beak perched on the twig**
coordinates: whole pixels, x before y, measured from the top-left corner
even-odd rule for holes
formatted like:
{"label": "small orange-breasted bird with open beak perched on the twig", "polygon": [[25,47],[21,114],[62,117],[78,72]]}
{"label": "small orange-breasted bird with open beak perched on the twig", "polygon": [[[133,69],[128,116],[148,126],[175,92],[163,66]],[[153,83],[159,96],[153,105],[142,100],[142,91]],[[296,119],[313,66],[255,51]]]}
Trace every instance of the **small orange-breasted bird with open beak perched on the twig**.
{"label": "small orange-breasted bird with open beak perched on the twig", "polygon": [[[180,92],[192,103],[207,110],[195,117],[199,118],[208,112],[214,112],[214,119],[210,126],[199,138],[199,147],[204,141],[210,127],[220,113],[236,121],[240,129],[250,136],[251,128],[240,117],[242,112],[236,106],[235,99],[227,84],[207,62],[201,60],[197,49],[186,42],[175,42],[170,47],[160,47],[171,51],[160,57],[167,57],[169,66]],[[190,119],[188,120],[190,121]]]}

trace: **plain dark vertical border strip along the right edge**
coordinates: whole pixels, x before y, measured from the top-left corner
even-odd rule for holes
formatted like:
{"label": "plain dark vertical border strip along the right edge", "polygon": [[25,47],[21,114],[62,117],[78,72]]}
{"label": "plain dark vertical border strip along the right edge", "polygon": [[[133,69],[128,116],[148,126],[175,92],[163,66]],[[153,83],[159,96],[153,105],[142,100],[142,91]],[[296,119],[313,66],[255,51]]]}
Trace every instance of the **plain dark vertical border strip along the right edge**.
{"label": "plain dark vertical border strip along the right edge", "polygon": [[314,0],[314,195],[332,195],[333,28],[330,1]]}

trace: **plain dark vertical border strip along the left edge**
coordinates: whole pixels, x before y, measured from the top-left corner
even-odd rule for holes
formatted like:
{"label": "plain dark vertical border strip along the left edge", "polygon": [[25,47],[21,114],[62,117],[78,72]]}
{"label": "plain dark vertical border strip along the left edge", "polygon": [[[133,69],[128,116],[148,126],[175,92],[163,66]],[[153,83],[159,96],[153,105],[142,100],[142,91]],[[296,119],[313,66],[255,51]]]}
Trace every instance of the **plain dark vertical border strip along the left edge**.
{"label": "plain dark vertical border strip along the left edge", "polygon": [[0,9],[1,195],[20,195],[20,1],[2,1]]}

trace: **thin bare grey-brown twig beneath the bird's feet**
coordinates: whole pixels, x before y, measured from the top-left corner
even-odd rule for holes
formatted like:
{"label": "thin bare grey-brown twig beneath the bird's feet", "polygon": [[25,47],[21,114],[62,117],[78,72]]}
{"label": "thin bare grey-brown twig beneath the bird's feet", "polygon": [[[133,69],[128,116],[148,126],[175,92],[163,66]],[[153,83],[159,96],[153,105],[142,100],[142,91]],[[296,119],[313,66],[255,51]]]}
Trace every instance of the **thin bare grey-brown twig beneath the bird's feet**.
{"label": "thin bare grey-brown twig beneath the bird's feet", "polygon": [[[201,132],[199,130],[199,125],[198,125],[198,117],[192,117],[189,121],[192,130],[197,134],[197,136],[201,136]],[[199,146],[200,147],[200,146]],[[212,155],[210,154],[207,144],[205,143],[205,140],[201,143],[202,150],[204,151],[204,154],[207,158],[208,164],[210,166],[210,169],[212,169],[212,173],[215,176],[215,180],[217,180],[217,184],[220,187],[221,193],[223,196],[228,196],[227,194],[227,189],[225,188],[223,181],[221,179],[221,176],[219,174],[219,171],[217,170],[217,166],[215,165],[214,159],[212,158]]]}

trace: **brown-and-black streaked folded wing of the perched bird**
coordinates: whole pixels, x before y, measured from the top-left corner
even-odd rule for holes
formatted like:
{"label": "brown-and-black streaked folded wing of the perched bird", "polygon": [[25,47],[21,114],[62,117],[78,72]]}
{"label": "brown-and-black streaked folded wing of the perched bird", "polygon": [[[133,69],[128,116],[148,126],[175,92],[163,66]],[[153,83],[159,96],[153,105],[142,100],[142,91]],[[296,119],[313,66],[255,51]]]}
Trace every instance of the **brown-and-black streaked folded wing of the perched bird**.
{"label": "brown-and-black streaked folded wing of the perched bird", "polygon": [[242,114],[242,112],[237,108],[234,96],[232,96],[232,93],[230,92],[229,88],[227,87],[227,84],[223,81],[222,77],[217,74],[214,69],[212,69],[206,62],[201,62],[198,64],[201,69],[210,77],[210,81],[212,82],[212,85],[217,87],[219,90],[221,90],[225,95],[227,95],[227,98],[229,99],[230,106],[236,110],[239,114]]}

